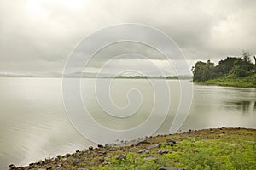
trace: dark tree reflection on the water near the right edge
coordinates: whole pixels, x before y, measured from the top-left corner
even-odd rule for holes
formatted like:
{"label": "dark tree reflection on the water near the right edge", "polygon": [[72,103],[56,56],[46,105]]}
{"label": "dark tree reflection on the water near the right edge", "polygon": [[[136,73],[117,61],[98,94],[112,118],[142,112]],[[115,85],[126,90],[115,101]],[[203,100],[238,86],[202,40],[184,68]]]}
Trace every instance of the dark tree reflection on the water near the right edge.
{"label": "dark tree reflection on the water near the right edge", "polygon": [[256,101],[227,101],[224,106],[230,110],[239,110],[244,114],[249,114],[256,110]]}

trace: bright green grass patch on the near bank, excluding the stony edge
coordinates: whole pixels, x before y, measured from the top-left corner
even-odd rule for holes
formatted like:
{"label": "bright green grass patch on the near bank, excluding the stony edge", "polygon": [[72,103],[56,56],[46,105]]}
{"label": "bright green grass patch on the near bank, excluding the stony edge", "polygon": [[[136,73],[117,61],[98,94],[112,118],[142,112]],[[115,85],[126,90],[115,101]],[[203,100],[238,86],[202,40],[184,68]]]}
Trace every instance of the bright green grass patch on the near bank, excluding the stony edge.
{"label": "bright green grass patch on the near bank, excluding the stony edge", "polygon": [[[108,166],[99,169],[158,169],[175,167],[189,169],[256,169],[255,142],[226,141],[224,139],[191,138],[179,142],[174,147],[164,146],[161,150],[177,150],[159,155],[152,150],[150,156],[157,159],[146,160],[147,154],[128,153],[125,161],[110,160]],[[254,147],[254,148],[253,148]]]}

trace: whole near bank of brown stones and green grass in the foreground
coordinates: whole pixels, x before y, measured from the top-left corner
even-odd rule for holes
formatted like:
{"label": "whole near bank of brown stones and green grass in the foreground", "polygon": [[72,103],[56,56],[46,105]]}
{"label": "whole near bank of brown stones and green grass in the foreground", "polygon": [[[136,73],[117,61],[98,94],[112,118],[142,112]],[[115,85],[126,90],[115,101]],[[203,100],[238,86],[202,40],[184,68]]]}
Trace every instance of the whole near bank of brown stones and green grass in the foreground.
{"label": "whole near bank of brown stones and green grass in the foreground", "polygon": [[[134,141],[132,144],[131,141],[105,146],[98,144],[96,148],[90,146],[72,154],[45,158],[25,167],[11,164],[9,169],[193,169],[210,165],[237,168],[238,164],[247,169],[256,167],[256,129],[253,128],[189,130]],[[241,159],[243,155],[245,157]],[[221,162],[223,160],[228,162],[227,165]]]}

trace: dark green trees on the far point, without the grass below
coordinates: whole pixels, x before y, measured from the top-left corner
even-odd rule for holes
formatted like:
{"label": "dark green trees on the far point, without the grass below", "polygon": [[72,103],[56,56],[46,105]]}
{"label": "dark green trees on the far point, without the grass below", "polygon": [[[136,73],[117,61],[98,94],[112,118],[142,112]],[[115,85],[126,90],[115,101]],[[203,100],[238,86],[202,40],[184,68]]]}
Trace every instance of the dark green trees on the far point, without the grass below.
{"label": "dark green trees on the far point, without the grass below", "polygon": [[195,66],[192,67],[193,81],[205,82],[207,80],[219,78],[219,77],[247,77],[256,72],[256,59],[255,65],[251,62],[250,56],[252,55],[248,51],[243,51],[241,57],[227,57],[218,62],[218,65],[214,65],[211,60],[207,62],[198,61]]}

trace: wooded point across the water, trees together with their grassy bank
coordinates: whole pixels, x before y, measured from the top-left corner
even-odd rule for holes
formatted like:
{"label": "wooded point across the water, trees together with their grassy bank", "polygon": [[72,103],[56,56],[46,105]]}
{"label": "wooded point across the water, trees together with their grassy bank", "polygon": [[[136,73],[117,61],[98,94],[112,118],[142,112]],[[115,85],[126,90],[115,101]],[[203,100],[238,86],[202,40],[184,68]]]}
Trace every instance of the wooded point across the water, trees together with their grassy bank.
{"label": "wooded point across the water, trees together with their grassy bank", "polygon": [[214,65],[211,60],[197,61],[192,71],[193,82],[256,88],[256,59],[254,65],[247,51],[243,51],[241,57],[221,59],[218,65]]}

